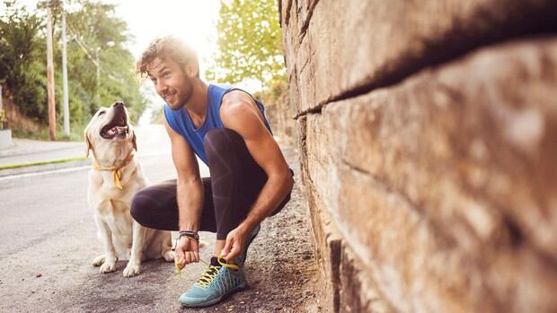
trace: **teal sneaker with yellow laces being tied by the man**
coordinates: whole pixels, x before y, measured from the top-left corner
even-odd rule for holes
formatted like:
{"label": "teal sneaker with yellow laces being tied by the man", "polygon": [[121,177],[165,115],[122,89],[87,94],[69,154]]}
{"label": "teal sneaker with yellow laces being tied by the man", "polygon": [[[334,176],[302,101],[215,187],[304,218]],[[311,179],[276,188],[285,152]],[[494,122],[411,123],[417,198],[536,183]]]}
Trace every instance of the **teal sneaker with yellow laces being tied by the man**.
{"label": "teal sneaker with yellow laces being tied by the man", "polygon": [[190,308],[208,307],[224,300],[235,291],[246,286],[243,269],[234,266],[231,269],[221,265],[216,256],[211,257],[211,264],[199,280],[180,297],[181,305]]}

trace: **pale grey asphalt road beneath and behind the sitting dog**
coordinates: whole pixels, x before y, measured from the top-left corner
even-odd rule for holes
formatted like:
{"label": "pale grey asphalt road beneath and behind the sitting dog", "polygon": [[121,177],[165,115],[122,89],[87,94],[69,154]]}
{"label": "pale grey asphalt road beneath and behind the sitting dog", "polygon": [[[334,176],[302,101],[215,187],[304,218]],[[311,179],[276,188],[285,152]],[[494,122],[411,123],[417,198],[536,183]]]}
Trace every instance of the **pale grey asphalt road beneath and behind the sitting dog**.
{"label": "pale grey asphalt road beneath and behind the sitting dog", "polygon": [[[138,138],[147,178],[174,178],[164,129],[141,129]],[[0,312],[181,310],[177,298],[203,265],[192,265],[199,268],[181,279],[163,260],[146,262],[143,273],[129,279],[121,275],[125,262],[112,274],[91,265],[102,248],[86,202],[88,170],[0,178]]]}

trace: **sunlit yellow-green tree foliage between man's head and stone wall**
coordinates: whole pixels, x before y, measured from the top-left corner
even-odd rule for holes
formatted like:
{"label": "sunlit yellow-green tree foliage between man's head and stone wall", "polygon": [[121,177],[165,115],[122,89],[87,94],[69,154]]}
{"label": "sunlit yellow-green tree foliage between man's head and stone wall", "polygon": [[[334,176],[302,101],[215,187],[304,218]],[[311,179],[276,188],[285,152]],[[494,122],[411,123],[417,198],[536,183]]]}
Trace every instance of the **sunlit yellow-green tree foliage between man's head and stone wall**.
{"label": "sunlit yellow-green tree foliage between man's head and stone wall", "polygon": [[219,51],[206,72],[209,80],[262,85],[285,77],[276,0],[221,0],[217,22]]}

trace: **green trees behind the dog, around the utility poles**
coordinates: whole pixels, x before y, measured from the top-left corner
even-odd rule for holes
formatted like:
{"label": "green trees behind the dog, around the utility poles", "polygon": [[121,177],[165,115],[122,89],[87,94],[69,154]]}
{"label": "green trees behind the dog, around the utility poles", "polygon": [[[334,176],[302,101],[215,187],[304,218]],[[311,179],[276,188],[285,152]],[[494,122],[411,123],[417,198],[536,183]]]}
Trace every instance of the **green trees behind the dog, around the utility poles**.
{"label": "green trees behind the dog, around the utility poles", "polygon": [[[62,125],[61,2],[50,2],[54,20],[54,65],[58,129]],[[16,0],[4,2],[0,13],[0,83],[26,116],[48,120],[46,77],[46,6],[28,13]],[[132,39],[115,5],[92,0],[66,1],[67,74],[70,122],[83,132],[99,107],[115,100],[128,104],[132,120],[146,107],[134,72],[134,57],[126,48]],[[98,61],[98,62],[97,62]],[[100,65],[97,76],[97,65]]]}

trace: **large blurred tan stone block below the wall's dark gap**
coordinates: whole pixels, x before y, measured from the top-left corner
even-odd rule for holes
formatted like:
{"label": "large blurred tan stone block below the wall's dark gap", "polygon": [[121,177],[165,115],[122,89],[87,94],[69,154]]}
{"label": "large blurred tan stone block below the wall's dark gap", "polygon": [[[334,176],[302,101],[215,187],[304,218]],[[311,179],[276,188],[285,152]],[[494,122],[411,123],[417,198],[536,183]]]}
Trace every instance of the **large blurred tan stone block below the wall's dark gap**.
{"label": "large blurred tan stone block below the wall's dark gap", "polygon": [[306,115],[310,207],[394,309],[557,310],[555,85],[529,39]]}

